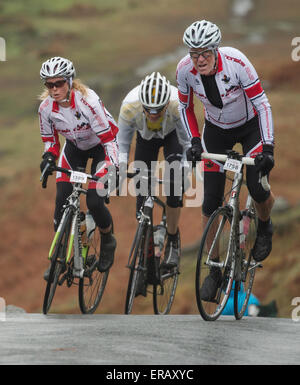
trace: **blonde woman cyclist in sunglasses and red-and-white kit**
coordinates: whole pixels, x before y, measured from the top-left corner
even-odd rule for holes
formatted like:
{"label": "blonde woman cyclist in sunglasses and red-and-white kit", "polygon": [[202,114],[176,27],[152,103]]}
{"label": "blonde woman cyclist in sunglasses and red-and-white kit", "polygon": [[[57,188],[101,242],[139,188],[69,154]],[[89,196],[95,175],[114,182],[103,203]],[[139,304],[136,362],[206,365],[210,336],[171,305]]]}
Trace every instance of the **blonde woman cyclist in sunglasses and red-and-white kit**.
{"label": "blonde woman cyclist in sunglasses and red-and-white kit", "polygon": [[[40,96],[40,132],[44,142],[41,171],[58,160],[58,166],[71,170],[86,167],[92,159],[91,173],[101,176],[100,165],[107,160],[118,167],[117,125],[105,109],[98,95],[79,79],[75,79],[73,63],[62,57],[52,57],[42,64],[40,77],[46,86]],[[66,138],[60,149],[59,134]],[[47,171],[48,172],[48,171]],[[51,168],[48,174],[51,174]],[[72,184],[66,174],[56,173],[56,206],[54,229],[62,217],[62,207],[72,192]],[[116,240],[112,233],[112,217],[97,194],[97,185],[90,182],[87,192],[87,207],[101,234],[101,251],[98,269],[108,270],[114,261]],[[44,278],[49,278],[48,268]]]}

